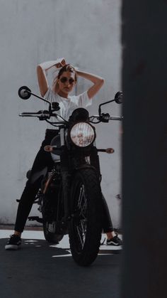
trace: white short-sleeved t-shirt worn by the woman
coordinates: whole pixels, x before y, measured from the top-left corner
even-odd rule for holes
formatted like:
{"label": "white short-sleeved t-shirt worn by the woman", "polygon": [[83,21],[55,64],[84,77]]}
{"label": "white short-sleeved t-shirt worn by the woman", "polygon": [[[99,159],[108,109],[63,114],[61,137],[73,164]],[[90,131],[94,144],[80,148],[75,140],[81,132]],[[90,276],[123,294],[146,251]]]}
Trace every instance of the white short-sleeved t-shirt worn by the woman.
{"label": "white short-sleeved t-shirt worn by the woman", "polygon": [[[60,109],[56,113],[57,115],[62,116],[67,121],[69,120],[69,116],[71,116],[71,113],[74,110],[76,110],[78,107],[88,107],[88,105],[91,105],[92,103],[92,99],[88,98],[87,91],[79,95],[69,95],[68,98],[64,98],[59,96],[57,93],[54,93],[49,87],[44,97],[45,97],[45,100],[48,100],[51,103],[59,102]],[[61,122],[61,119],[50,117],[49,121]],[[50,129],[54,129],[54,127],[51,124],[48,124],[47,127]]]}

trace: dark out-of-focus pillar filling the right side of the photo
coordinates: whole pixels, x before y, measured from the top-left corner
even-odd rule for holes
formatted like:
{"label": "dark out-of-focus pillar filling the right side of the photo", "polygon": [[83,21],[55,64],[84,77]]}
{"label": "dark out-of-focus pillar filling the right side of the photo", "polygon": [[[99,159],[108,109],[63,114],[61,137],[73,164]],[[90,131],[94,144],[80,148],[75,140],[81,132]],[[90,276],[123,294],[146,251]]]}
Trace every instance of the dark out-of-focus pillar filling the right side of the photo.
{"label": "dark out-of-focus pillar filling the right side of the photo", "polygon": [[122,298],[167,297],[167,1],[122,1]]}

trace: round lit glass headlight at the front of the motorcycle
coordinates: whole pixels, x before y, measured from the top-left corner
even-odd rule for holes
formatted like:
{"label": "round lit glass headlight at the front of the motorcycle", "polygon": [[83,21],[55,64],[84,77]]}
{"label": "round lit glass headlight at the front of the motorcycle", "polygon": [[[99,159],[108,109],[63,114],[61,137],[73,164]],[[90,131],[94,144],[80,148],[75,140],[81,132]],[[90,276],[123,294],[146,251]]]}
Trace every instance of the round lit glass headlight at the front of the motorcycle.
{"label": "round lit glass headlight at the front of the motorcycle", "polygon": [[70,131],[70,139],[77,147],[88,147],[96,137],[95,129],[87,122],[74,124]]}

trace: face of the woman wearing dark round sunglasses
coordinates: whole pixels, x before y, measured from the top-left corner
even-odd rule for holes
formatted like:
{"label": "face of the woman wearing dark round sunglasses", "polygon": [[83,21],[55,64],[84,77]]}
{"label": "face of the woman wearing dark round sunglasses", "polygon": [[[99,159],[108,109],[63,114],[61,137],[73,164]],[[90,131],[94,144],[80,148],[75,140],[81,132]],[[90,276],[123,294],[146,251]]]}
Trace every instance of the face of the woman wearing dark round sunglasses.
{"label": "face of the woman wearing dark round sunglasses", "polygon": [[62,97],[67,97],[76,84],[75,73],[64,71],[60,78],[57,79],[57,83],[59,85],[59,95],[61,96],[62,94]]}

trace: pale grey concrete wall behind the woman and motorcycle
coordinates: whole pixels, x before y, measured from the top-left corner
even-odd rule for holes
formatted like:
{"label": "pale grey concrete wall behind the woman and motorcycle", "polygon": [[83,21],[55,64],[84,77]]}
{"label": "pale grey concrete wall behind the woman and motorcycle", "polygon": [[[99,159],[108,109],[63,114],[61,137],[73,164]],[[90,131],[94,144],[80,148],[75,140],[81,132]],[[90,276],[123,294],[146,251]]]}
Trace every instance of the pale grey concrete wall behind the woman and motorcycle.
{"label": "pale grey concrete wall behind the woman and motorcycle", "polygon": [[[18,117],[40,110],[35,98],[23,101],[18,88],[38,92],[36,65],[44,60],[67,62],[105,78],[105,85],[89,108],[97,114],[100,102],[114,97],[120,87],[120,0],[0,0],[0,223],[14,223],[25,173],[31,167],[45,133],[45,122]],[[89,84],[79,80],[77,92]],[[120,115],[120,106],[104,112]],[[115,154],[100,154],[102,188],[115,227],[120,227],[120,123],[97,124],[98,147],[113,147]],[[35,215],[33,207],[31,215]]]}

